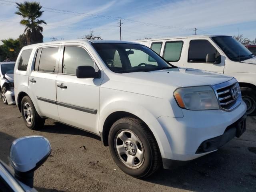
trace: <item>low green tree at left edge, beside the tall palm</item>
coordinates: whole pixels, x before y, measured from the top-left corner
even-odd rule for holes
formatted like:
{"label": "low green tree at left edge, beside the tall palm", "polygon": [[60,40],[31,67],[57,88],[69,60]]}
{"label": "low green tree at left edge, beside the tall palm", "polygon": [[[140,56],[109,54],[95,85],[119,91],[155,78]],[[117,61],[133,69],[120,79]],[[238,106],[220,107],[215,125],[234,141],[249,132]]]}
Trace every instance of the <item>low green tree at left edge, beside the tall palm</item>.
{"label": "low green tree at left edge, beside the tall palm", "polygon": [[[5,58],[8,56],[11,61],[16,61],[18,54],[20,52],[20,39],[3,39],[1,40],[3,42],[3,45],[1,45],[1,60],[5,60]],[[14,51],[10,51],[10,49],[13,49]]]}

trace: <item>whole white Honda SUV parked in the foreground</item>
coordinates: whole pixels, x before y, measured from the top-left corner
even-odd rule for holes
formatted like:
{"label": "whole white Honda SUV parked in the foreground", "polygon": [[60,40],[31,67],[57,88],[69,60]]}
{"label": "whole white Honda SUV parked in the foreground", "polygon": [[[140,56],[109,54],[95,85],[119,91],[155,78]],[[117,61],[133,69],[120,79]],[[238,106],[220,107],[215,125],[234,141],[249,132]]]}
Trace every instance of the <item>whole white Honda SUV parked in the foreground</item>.
{"label": "whole white Honda SUV parked in the foreground", "polygon": [[25,46],[14,68],[30,129],[52,118],[101,137],[134,177],[216,151],[245,131],[235,78],[177,68],[132,42],[74,40]]}

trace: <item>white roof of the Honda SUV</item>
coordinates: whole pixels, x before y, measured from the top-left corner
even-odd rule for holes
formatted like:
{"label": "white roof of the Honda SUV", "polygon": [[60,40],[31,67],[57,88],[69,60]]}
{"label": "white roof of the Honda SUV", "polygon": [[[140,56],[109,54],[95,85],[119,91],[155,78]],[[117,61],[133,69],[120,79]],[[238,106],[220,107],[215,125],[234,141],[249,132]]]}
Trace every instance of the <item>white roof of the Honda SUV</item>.
{"label": "white roof of the Honda SUV", "polygon": [[[63,41],[51,41],[51,42],[43,42],[37,43],[32,45],[24,46],[25,49],[28,48],[35,48],[40,45],[51,45],[51,44],[62,44],[62,43],[84,43],[84,44],[92,44],[92,43],[132,43],[136,44],[135,42],[128,42],[128,41],[118,41],[118,40],[86,40],[86,39],[75,39],[75,40],[63,40]],[[23,48],[23,49],[24,49]]]}

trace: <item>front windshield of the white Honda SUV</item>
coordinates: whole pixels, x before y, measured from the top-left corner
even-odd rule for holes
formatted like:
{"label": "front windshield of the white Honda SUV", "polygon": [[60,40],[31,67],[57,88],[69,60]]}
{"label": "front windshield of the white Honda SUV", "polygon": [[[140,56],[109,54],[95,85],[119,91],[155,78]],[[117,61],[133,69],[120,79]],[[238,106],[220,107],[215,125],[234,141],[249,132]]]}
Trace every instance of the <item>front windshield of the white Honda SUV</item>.
{"label": "front windshield of the white Honda SUV", "polygon": [[143,45],[96,43],[92,46],[106,66],[116,73],[148,72],[171,68],[168,62]]}

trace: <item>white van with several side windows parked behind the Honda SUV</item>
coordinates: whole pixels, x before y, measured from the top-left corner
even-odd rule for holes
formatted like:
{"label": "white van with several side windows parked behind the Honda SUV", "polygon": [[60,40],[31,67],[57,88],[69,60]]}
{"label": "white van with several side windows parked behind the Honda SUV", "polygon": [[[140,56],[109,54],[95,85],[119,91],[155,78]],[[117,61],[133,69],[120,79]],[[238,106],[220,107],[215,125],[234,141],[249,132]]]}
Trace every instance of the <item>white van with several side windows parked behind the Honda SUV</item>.
{"label": "white van with several side windows parked behind the Honda SUV", "polygon": [[256,112],[256,57],[231,36],[184,36],[136,41],[171,64],[235,77],[247,114]]}

